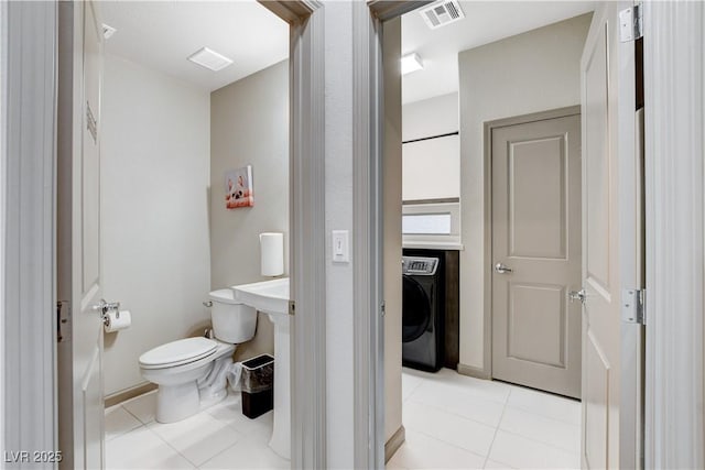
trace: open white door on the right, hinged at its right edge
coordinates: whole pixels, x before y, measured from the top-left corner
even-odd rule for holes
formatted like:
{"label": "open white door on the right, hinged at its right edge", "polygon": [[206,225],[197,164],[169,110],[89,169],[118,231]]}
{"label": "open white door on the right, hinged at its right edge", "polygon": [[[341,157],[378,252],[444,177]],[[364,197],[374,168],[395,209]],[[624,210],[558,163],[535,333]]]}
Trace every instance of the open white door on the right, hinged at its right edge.
{"label": "open white door on the right, hinged at its right edge", "polygon": [[[621,371],[620,336],[626,328],[620,321],[620,294],[622,271],[637,270],[634,228],[640,217],[633,205],[626,210],[623,204],[638,175],[633,165],[631,173],[620,165],[626,159],[634,160],[633,45],[628,56],[629,47],[620,46],[618,22],[619,9],[627,7],[628,2],[605,2],[598,8],[581,61],[585,469],[620,468],[620,431],[626,429],[620,423],[621,376],[626,376]],[[631,197],[633,200],[633,194]],[[630,225],[632,228],[628,228]],[[639,385],[629,385],[639,390]]]}

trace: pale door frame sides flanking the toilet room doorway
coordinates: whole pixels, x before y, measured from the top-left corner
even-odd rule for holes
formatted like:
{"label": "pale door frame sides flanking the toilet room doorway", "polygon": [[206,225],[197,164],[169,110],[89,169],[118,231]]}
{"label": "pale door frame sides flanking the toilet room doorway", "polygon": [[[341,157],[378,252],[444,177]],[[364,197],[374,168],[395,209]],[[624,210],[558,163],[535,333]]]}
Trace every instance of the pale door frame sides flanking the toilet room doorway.
{"label": "pale door frame sides flanking the toilet room doorway", "polygon": [[[291,24],[292,466],[324,468],[324,48],[321,3],[265,2]],[[54,2],[2,2],[1,450],[58,450]],[[6,28],[9,26],[9,28]],[[21,61],[34,57],[34,61]],[[9,99],[8,99],[9,98]],[[295,280],[307,282],[296,284]],[[21,359],[21,362],[20,362]],[[6,384],[13,386],[6,387]],[[4,453],[3,453],[4,455]],[[31,456],[30,456],[31,457]]]}

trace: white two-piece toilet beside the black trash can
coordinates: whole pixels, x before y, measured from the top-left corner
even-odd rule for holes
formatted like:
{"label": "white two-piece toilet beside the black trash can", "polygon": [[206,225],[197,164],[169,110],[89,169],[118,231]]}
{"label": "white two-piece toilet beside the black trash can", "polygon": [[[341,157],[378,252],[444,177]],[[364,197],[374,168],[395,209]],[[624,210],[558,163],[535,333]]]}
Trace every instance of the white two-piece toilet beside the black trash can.
{"label": "white two-piece toilet beside the black trash can", "polygon": [[209,298],[215,339],[180,339],[140,356],[142,376],[159,385],[160,423],[185,419],[225,398],[235,348],[254,336],[254,308],[235,300],[229,288],[214,291]]}

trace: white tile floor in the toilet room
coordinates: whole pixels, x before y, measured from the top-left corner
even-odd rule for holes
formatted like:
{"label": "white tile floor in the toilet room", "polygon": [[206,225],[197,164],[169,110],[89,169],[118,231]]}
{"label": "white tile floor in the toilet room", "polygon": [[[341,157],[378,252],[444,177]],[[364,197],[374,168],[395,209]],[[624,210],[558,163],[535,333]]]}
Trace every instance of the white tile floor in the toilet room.
{"label": "white tile floor in the toilet room", "polygon": [[121,469],[289,469],[289,460],[268,446],[272,412],[249,419],[240,394],[188,419],[154,420],[155,392],[106,409],[106,468]]}

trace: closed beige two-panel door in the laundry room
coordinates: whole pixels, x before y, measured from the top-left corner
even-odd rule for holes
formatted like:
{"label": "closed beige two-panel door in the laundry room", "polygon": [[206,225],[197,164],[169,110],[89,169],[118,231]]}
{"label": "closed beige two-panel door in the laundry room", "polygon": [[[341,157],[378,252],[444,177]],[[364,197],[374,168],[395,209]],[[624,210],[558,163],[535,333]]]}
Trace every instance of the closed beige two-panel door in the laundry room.
{"label": "closed beige two-panel door in the laundry room", "polygon": [[581,396],[581,116],[494,128],[492,376]]}

